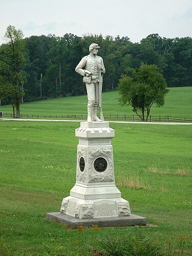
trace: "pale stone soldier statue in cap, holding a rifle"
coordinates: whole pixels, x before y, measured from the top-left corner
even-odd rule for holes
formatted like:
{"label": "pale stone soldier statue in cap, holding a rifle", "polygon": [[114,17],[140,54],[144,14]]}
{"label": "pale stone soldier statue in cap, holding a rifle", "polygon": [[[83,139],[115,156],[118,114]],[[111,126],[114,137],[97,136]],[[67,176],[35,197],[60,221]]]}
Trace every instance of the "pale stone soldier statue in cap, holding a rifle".
{"label": "pale stone soldier statue in cap, holding a rifle", "polygon": [[[88,122],[102,122],[102,120],[97,117],[97,108],[99,105],[99,83],[101,84],[102,80],[102,76],[99,76],[99,73],[104,74],[105,68],[103,59],[97,56],[99,48],[97,44],[91,44],[89,47],[90,54],[84,56],[75,68],[75,71],[83,76],[83,82],[86,84],[87,88]],[[82,69],[83,67],[85,69]]]}

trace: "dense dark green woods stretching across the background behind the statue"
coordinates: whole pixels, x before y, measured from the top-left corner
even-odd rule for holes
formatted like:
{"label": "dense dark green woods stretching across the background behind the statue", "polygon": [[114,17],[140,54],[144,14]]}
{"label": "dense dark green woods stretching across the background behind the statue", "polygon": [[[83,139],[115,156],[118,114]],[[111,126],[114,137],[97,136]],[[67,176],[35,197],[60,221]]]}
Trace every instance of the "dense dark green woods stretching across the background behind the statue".
{"label": "dense dark green woods stretching across the background behind the statue", "polygon": [[[8,28],[14,32],[14,27]],[[4,95],[3,103],[11,101],[11,84],[15,84],[16,89],[20,86],[17,92],[22,94],[25,101],[86,93],[82,77],[76,74],[75,67],[83,56],[89,54],[89,46],[93,42],[100,46],[99,55],[106,69],[103,91],[116,89],[121,76],[132,76],[142,63],[156,65],[168,87],[192,84],[191,37],[165,38],[151,34],[138,43],[131,42],[127,36],[113,38],[101,34],[82,37],[74,34],[61,37],[49,34],[23,38],[20,30],[15,31],[20,33],[15,47],[23,55],[17,50],[15,53],[14,49],[10,50],[14,38],[10,37],[8,30],[8,43],[0,46],[0,86],[3,88],[5,83],[10,84],[9,95]],[[14,54],[18,55],[15,63],[11,60]]]}

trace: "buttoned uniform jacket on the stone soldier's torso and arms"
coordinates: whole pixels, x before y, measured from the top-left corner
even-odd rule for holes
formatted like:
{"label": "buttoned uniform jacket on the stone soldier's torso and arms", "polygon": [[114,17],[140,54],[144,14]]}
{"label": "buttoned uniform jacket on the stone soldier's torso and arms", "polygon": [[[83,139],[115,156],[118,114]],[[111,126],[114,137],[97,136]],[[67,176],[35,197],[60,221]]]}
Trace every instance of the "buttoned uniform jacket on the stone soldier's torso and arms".
{"label": "buttoned uniform jacket on the stone soldier's torso and arms", "polygon": [[[75,71],[79,73],[81,76],[85,75],[85,71],[89,71],[92,73],[92,80],[91,82],[99,82],[99,68],[98,65],[102,65],[101,72],[105,73],[105,68],[103,65],[103,59],[100,56],[92,57],[90,55],[84,56],[81,61],[78,63],[77,67],[75,68]],[[82,68],[85,67],[85,70]],[[95,79],[94,79],[95,78]]]}

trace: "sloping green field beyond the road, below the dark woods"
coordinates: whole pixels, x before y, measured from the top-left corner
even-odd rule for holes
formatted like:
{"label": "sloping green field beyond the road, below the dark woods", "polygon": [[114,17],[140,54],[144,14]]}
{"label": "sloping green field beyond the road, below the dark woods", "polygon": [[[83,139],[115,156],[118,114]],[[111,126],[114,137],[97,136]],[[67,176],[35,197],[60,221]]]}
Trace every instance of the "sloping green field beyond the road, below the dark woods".
{"label": "sloping green field beyond the road, below the dark woods", "polygon": [[[152,107],[152,116],[175,116],[192,118],[192,87],[169,88],[162,108]],[[104,115],[133,115],[131,106],[120,106],[118,92],[102,94]],[[4,113],[12,113],[11,105],[1,107]],[[35,102],[26,102],[20,106],[23,115],[86,115],[87,95],[73,96]]]}

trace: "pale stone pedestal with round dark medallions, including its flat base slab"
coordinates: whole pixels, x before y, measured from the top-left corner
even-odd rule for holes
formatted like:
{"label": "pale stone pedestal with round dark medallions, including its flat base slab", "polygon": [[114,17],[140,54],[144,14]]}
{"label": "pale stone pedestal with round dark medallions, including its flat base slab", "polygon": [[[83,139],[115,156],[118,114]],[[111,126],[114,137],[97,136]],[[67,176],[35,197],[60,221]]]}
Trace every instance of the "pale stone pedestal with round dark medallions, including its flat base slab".
{"label": "pale stone pedestal with round dark medallions, including its flat base slab", "polygon": [[70,220],[76,225],[98,222],[103,226],[103,222],[113,223],[109,222],[110,219],[115,220],[116,226],[118,223],[146,225],[145,218],[131,217],[129,202],[121,198],[115,185],[111,144],[115,131],[109,127],[109,122],[81,122],[75,130],[75,136],[79,139],[76,183],[70,196],[62,200],[61,214],[49,213],[47,218],[62,220],[64,223]]}

